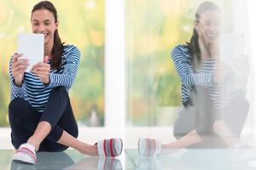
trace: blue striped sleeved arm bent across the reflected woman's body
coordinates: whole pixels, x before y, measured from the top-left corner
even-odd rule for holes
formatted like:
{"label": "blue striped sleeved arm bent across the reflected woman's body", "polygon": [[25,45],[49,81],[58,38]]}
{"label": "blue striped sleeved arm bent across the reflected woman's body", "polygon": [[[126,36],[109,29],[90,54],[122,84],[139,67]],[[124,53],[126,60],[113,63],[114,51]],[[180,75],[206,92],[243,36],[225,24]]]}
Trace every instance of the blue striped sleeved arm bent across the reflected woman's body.
{"label": "blue striped sleeved arm bent across the reflected woman's body", "polygon": [[186,60],[185,54],[180,48],[172,49],[172,60],[177,68],[178,76],[184,86],[191,88],[196,85],[211,87],[214,83],[212,81],[213,72],[209,73],[194,73],[191,65]]}

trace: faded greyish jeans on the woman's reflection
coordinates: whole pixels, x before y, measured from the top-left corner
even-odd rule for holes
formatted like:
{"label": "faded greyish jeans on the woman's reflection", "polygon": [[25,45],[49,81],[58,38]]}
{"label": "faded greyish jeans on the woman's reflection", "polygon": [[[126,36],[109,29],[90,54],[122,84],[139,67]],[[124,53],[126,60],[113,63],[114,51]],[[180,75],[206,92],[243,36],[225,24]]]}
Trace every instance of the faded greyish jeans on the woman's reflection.
{"label": "faded greyish jeans on the woman's reflection", "polygon": [[220,139],[212,130],[213,123],[220,119],[226,122],[237,137],[240,136],[249,108],[247,99],[244,97],[231,99],[229,105],[220,111],[214,108],[206,88],[196,87],[189,94],[189,98],[192,105],[183,108],[174,124],[173,135],[176,139],[196,130],[201,136],[202,142],[193,144],[189,148],[226,147],[224,140]]}

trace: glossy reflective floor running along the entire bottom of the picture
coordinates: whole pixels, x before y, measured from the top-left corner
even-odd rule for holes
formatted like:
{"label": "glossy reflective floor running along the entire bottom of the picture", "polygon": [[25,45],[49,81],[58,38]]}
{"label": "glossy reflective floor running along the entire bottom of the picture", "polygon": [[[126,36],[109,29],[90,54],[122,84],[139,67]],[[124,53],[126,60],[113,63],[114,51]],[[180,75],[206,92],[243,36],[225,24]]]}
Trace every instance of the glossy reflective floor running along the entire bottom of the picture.
{"label": "glossy reflective floor running along the entire bottom of the picture", "polygon": [[117,158],[84,156],[76,150],[65,152],[40,152],[34,166],[12,162],[15,150],[0,150],[0,166],[3,170],[30,169],[256,169],[254,150],[192,149],[170,150],[169,155],[156,157],[139,156],[137,150],[125,150],[125,165]]}

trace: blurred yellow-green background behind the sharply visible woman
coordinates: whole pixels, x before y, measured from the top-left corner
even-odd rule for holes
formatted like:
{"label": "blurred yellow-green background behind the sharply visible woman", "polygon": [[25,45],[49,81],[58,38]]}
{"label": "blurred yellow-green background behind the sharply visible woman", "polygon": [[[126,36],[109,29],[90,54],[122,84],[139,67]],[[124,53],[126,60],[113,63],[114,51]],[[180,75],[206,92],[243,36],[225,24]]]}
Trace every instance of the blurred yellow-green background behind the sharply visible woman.
{"label": "blurred yellow-green background behind the sharply visible woman", "polygon": [[[0,126],[9,126],[9,58],[19,32],[31,32],[30,16],[38,0],[0,1]],[[104,123],[104,0],[52,0],[59,15],[62,42],[82,52],[79,72],[69,94],[79,124]]]}

